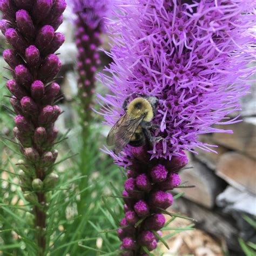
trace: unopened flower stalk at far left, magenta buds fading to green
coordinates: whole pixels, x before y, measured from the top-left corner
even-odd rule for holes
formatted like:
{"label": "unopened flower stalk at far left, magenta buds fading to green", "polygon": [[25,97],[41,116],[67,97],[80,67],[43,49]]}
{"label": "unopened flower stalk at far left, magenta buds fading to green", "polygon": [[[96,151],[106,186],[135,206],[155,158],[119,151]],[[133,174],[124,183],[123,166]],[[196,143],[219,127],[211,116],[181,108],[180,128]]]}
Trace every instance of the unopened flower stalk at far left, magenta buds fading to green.
{"label": "unopened flower stalk at far left, magenta buds fading to green", "polygon": [[37,230],[37,255],[46,247],[46,192],[58,176],[53,164],[58,151],[53,149],[58,129],[54,126],[60,114],[55,104],[60,86],[53,82],[61,63],[55,51],[64,42],[55,32],[63,21],[65,0],[1,0],[1,30],[12,46],[3,52],[13,78],[6,86],[12,93],[10,103],[17,116],[14,134],[24,160],[19,161],[21,187],[26,200],[33,205]]}

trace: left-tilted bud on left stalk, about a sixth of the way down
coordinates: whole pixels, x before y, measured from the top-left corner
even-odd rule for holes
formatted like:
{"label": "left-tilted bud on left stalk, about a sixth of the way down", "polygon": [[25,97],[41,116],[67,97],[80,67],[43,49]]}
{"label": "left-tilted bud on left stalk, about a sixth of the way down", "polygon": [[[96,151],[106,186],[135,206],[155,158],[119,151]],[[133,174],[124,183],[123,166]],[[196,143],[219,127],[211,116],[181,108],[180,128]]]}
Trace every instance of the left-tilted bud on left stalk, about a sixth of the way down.
{"label": "left-tilted bud on left stalk, about a sixth of the way down", "polygon": [[28,43],[15,29],[7,29],[5,31],[5,38],[18,52],[25,53]]}

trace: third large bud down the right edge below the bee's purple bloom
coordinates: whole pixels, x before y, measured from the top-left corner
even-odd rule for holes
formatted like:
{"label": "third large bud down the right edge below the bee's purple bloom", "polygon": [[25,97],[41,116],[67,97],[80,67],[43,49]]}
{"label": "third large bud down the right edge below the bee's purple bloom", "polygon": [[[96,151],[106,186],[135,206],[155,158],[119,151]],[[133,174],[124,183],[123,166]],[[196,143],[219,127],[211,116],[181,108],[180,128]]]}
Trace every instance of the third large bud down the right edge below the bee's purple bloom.
{"label": "third large bud down the right edge below the bee's purple bloom", "polygon": [[150,195],[149,205],[151,207],[159,207],[166,209],[172,205],[173,197],[172,194],[164,191],[156,191]]}

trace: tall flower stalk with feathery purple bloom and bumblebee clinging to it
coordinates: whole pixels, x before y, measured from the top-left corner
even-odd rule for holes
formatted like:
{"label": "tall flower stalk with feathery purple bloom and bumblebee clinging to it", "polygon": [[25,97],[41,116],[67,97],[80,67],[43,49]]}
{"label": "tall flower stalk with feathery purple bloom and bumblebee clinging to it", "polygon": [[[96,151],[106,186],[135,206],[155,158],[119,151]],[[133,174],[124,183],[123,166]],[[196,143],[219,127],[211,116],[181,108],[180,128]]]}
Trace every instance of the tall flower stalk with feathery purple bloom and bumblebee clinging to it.
{"label": "tall flower stalk with feathery purple bloom and bumblebee clinging to it", "polygon": [[255,53],[255,17],[250,0],[124,0],[114,7],[113,63],[106,69],[110,75],[101,75],[114,97],[99,96],[106,124],[124,113],[122,104],[132,93],[159,99],[153,118],[159,129],[151,133],[160,142],[126,146],[118,155],[105,150],[127,168],[118,231],[122,255],[147,255],[157,247],[162,213],[172,205],[166,191],[180,183],[184,151],[211,150],[199,134],[232,132],[212,125],[239,122],[228,114],[239,110],[253,73],[247,64]]}

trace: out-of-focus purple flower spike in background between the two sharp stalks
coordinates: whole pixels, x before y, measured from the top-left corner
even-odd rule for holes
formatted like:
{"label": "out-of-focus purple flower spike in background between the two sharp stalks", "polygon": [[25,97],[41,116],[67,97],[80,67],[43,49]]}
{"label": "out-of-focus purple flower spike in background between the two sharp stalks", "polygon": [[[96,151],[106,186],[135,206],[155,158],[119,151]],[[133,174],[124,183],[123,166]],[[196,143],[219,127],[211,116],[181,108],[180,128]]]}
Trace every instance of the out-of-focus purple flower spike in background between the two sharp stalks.
{"label": "out-of-focus purple flower spike in background between the two sharp stalks", "polygon": [[102,44],[100,35],[104,30],[104,17],[108,0],[70,0],[76,14],[76,45],[78,49],[78,90],[80,97],[80,118],[83,136],[91,118],[92,96],[95,92],[95,72],[100,64],[98,53]]}

